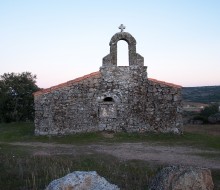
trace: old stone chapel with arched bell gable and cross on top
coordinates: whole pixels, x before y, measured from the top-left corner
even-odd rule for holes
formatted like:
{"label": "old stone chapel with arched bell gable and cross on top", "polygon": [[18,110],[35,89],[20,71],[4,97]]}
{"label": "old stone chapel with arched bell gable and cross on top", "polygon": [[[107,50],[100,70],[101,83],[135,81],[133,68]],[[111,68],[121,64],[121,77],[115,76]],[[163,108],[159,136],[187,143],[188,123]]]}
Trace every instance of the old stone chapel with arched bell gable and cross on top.
{"label": "old stone chapel with arched bell gable and cross on top", "polygon": [[[35,134],[182,132],[181,86],[147,77],[128,32],[110,40],[98,72],[34,93]],[[128,43],[129,66],[117,66],[117,43]]]}

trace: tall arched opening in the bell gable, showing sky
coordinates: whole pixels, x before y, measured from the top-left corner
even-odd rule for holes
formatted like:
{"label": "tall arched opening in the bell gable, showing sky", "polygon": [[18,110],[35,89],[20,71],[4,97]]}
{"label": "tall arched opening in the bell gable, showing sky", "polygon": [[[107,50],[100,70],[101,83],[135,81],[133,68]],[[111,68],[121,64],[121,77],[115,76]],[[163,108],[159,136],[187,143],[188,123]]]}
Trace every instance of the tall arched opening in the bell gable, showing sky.
{"label": "tall arched opening in the bell gable, showing sky", "polygon": [[129,46],[125,40],[117,43],[117,66],[129,66]]}

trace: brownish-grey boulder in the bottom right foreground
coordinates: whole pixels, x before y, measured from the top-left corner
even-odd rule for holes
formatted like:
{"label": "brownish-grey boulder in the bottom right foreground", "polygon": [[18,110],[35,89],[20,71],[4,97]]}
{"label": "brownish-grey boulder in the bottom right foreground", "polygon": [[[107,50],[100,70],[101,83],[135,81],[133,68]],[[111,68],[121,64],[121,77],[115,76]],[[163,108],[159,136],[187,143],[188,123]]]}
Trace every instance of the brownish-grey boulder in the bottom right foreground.
{"label": "brownish-grey boulder in the bottom right foreground", "polygon": [[190,166],[163,168],[152,180],[149,190],[212,190],[211,171]]}

